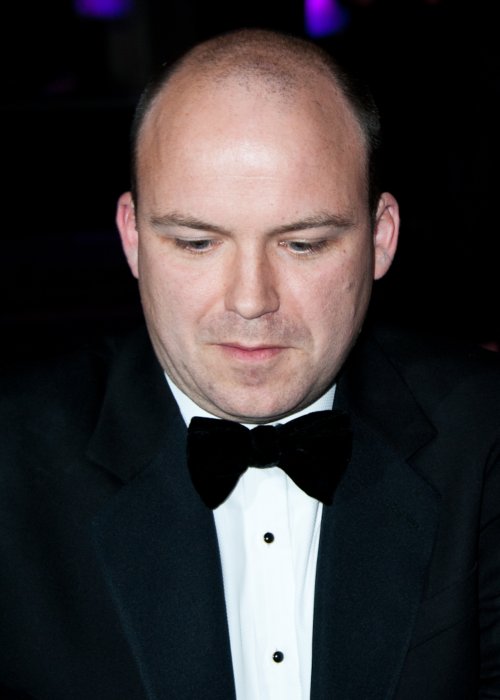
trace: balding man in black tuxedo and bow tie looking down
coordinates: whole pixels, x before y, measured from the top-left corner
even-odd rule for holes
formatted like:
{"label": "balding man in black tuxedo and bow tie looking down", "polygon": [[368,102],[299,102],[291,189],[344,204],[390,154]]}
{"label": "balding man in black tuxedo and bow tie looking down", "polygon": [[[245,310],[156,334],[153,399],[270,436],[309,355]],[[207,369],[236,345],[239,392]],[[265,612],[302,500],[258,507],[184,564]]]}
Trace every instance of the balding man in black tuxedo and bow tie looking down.
{"label": "balding man in black tuxedo and bow tie looking down", "polygon": [[[500,370],[363,328],[399,227],[373,104],[242,31],[161,76],[134,134],[117,223],[149,338],[4,391],[4,696],[500,697]],[[310,419],[339,430],[289,476]]]}

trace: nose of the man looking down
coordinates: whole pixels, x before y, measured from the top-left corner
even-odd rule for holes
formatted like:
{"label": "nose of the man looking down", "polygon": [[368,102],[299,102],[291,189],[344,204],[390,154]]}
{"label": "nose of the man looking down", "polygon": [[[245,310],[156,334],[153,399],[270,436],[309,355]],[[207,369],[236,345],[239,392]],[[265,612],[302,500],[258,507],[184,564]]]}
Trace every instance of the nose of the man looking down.
{"label": "nose of the man looking down", "polygon": [[225,301],[227,310],[248,320],[278,310],[276,274],[265,250],[236,253],[231,261]]}

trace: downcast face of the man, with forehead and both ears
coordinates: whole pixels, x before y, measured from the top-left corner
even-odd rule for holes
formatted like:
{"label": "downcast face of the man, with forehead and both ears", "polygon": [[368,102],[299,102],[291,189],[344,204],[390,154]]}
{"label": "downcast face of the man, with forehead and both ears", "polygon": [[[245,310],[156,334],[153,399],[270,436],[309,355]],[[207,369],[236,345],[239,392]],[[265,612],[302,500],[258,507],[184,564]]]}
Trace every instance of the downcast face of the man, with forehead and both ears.
{"label": "downcast face of the man, with forehead and both ears", "polygon": [[143,127],[138,208],[118,205],[158,358],[220,417],[263,422],[318,398],[395,250],[397,204],[382,196],[373,230],[360,128],[318,83],[170,86]]}

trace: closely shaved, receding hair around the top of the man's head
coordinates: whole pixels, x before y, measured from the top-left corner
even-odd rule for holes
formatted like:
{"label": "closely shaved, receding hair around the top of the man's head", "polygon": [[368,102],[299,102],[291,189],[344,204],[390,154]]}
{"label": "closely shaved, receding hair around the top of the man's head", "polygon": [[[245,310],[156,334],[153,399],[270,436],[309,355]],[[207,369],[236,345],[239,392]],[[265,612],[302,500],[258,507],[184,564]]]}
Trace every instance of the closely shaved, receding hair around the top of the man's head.
{"label": "closely shaved, receding hair around the top of the man's head", "polygon": [[325,83],[348,105],[360,127],[366,152],[366,180],[370,210],[374,213],[379,189],[375,156],[379,145],[379,115],[370,93],[347,75],[329,54],[297,37],[266,30],[238,30],[195,46],[166,66],[148,85],[138,103],[132,128],[132,194],[138,203],[138,162],[143,129],[163,98],[189,86],[191,94],[227,82],[269,93],[283,103],[308,90],[320,95]]}

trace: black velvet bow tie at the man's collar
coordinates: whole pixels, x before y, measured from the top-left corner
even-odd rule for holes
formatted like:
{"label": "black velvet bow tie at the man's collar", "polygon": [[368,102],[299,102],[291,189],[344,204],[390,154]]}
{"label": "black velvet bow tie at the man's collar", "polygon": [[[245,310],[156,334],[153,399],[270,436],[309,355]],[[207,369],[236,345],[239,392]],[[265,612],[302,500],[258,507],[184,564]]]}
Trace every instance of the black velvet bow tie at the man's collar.
{"label": "black velvet bow tie at the man's collar", "polygon": [[195,489],[217,508],[247,467],[278,466],[305,493],[330,505],[351,456],[349,418],[340,411],[308,413],[283,425],[246,428],[216,418],[193,418],[187,459]]}

